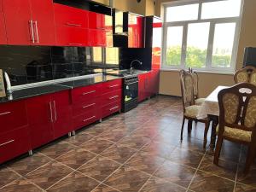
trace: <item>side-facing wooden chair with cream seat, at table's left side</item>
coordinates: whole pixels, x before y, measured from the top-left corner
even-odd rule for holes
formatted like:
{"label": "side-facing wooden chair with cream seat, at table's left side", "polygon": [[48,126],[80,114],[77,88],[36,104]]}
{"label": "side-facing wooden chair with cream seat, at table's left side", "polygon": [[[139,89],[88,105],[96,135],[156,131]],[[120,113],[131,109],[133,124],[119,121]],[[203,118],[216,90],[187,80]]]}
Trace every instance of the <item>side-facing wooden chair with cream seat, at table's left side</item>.
{"label": "side-facing wooden chair with cream seat, at table's left side", "polygon": [[197,119],[197,115],[201,106],[195,105],[193,77],[190,73],[184,70],[180,71],[180,82],[183,97],[183,125],[181,130],[180,139],[183,140],[183,127],[185,119],[188,119],[188,131],[192,130],[193,121],[201,122],[205,124],[204,132],[204,148],[207,146],[207,133],[209,130],[210,120],[209,119]]}

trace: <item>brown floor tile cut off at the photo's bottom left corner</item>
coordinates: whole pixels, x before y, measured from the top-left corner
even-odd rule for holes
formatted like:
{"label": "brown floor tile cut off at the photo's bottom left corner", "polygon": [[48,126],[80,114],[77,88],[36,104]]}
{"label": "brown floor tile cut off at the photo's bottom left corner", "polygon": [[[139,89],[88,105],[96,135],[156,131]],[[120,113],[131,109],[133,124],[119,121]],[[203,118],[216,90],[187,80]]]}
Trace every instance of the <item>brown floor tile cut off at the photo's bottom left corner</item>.
{"label": "brown floor tile cut off at the photo's bottom left corner", "polygon": [[43,189],[39,189],[36,185],[30,183],[24,178],[15,180],[12,183],[9,183],[3,189],[0,189],[1,192],[43,192]]}

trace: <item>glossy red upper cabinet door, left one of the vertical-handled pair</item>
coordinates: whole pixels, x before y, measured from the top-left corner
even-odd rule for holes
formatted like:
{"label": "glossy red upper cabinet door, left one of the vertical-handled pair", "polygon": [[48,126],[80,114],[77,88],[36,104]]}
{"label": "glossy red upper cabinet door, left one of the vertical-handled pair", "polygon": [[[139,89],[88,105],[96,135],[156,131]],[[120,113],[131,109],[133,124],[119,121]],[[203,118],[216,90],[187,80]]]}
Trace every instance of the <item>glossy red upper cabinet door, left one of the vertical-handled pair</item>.
{"label": "glossy red upper cabinet door, left one of the vertical-handled pair", "polygon": [[31,44],[33,26],[30,23],[30,1],[3,0],[3,12],[8,44]]}

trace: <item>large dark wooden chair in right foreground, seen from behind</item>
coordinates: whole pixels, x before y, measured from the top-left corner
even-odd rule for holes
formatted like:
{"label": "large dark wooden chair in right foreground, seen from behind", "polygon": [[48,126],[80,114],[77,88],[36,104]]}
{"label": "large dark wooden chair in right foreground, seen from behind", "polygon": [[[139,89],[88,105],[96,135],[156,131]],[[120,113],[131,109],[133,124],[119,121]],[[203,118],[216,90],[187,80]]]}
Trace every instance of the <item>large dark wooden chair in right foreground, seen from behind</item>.
{"label": "large dark wooden chair in right foreground, seen from behind", "polygon": [[244,173],[247,174],[256,151],[256,86],[248,83],[221,90],[218,93],[219,125],[214,164],[224,139],[248,146]]}

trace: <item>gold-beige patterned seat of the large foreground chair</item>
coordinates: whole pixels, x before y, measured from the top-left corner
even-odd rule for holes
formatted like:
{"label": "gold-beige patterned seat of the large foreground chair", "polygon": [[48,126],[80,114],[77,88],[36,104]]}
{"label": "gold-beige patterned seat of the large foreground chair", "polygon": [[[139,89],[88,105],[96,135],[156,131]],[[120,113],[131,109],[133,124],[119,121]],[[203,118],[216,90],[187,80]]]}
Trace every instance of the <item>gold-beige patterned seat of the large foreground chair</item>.
{"label": "gold-beige patterned seat of the large foreground chair", "polygon": [[[217,126],[217,134],[218,134],[218,126]],[[224,126],[224,137],[230,137],[236,140],[240,140],[243,142],[251,142],[252,141],[252,131],[244,131],[236,128],[230,128],[228,126]]]}

